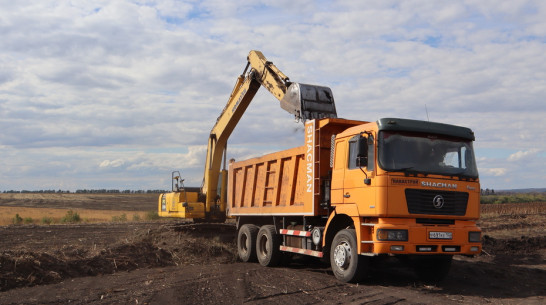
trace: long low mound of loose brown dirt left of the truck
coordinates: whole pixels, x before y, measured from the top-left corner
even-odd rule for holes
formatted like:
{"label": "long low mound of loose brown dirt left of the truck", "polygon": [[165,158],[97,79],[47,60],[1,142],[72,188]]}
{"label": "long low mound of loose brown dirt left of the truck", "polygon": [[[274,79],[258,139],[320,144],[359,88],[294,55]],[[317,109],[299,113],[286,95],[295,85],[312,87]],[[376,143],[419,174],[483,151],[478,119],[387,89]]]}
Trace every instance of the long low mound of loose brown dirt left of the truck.
{"label": "long low mound of loose brown dirt left of the truck", "polygon": [[137,230],[133,236],[95,251],[71,245],[52,252],[3,251],[0,291],[139,268],[233,262],[235,245],[225,240],[211,238],[199,228],[188,233],[161,226]]}

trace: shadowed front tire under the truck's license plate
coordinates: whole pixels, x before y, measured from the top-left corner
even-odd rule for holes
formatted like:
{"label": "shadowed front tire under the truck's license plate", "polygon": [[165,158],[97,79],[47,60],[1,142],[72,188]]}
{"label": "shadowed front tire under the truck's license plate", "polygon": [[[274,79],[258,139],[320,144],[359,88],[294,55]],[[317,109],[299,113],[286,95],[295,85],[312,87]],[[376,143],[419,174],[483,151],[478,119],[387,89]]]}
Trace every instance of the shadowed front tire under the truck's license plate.
{"label": "shadowed front tire under the truck's license plate", "polygon": [[419,257],[414,259],[413,268],[421,281],[437,284],[447,277],[452,259],[451,255]]}

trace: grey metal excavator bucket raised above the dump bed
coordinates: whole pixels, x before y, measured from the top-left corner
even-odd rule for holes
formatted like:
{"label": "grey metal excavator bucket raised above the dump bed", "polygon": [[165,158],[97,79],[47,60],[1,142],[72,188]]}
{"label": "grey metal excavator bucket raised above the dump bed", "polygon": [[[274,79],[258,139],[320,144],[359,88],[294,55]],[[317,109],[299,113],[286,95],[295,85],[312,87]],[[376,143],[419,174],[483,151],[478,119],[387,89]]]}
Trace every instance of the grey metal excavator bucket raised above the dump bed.
{"label": "grey metal excavator bucket raised above the dump bed", "polygon": [[337,118],[332,90],[323,86],[292,83],[281,100],[281,108],[302,122]]}

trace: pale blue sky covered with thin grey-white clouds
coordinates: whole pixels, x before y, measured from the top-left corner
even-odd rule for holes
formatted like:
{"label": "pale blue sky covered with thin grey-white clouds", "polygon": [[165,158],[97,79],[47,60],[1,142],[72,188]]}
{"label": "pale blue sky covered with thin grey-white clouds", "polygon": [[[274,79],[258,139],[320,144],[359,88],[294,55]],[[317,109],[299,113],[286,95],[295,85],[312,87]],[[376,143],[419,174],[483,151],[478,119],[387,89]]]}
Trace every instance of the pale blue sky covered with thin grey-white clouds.
{"label": "pale blue sky covered with thin grey-white clouds", "polygon": [[[0,0],[0,191],[199,186],[252,49],[338,115],[476,134],[482,188],[546,187],[546,2]],[[260,90],[229,157],[299,146]]]}

